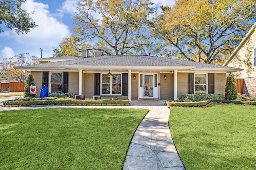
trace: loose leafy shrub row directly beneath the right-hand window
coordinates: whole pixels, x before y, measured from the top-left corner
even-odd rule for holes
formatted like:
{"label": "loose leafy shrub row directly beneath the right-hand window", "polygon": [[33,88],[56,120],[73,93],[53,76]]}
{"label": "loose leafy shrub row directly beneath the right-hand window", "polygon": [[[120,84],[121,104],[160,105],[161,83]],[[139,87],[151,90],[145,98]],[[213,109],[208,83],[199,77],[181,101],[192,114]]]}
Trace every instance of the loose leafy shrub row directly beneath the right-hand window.
{"label": "loose leafy shrub row directly beneath the right-hand window", "polygon": [[182,102],[199,102],[204,100],[224,100],[224,94],[182,94],[180,100]]}

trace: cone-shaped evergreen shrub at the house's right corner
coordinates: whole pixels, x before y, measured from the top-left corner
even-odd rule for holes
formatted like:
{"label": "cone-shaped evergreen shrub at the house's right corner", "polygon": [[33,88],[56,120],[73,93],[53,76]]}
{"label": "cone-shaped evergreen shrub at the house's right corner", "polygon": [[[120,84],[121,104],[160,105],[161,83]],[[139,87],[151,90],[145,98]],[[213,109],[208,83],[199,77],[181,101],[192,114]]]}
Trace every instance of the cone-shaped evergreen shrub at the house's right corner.
{"label": "cone-shaped evergreen shrub at the house's right corner", "polygon": [[227,77],[226,88],[225,88],[225,99],[226,100],[236,100],[237,98],[237,88],[236,80],[233,74],[229,74]]}

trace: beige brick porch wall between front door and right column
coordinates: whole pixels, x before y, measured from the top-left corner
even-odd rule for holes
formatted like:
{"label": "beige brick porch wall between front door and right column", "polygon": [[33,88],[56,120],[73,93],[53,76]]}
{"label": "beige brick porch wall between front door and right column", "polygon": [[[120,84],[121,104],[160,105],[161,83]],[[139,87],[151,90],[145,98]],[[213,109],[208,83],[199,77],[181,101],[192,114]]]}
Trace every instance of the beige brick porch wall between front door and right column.
{"label": "beige brick porch wall between front door and right column", "polygon": [[167,78],[164,80],[164,74],[160,74],[161,82],[161,99],[162,100],[173,100],[174,95],[174,74],[166,74]]}

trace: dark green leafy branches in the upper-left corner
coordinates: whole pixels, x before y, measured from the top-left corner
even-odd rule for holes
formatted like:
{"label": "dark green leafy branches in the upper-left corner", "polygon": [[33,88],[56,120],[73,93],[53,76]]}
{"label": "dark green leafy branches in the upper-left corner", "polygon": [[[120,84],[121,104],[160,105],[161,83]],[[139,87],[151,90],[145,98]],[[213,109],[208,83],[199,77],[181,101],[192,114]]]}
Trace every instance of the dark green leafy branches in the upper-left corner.
{"label": "dark green leafy branches in the upper-left corner", "polygon": [[[28,33],[30,29],[38,26],[30,17],[32,13],[27,13],[22,9],[22,4],[26,0],[0,0],[0,24],[4,25],[19,35],[20,33]],[[0,32],[2,32],[0,27]]]}

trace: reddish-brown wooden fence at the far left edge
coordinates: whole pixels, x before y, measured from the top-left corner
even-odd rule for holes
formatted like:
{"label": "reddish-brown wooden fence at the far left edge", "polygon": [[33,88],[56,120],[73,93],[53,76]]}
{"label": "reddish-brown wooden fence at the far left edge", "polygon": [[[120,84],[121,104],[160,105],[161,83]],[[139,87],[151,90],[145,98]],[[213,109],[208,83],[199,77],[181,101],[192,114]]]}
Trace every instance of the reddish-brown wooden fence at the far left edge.
{"label": "reddish-brown wooden fence at the far left edge", "polygon": [[24,92],[25,83],[20,82],[0,82],[0,92]]}

